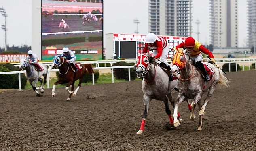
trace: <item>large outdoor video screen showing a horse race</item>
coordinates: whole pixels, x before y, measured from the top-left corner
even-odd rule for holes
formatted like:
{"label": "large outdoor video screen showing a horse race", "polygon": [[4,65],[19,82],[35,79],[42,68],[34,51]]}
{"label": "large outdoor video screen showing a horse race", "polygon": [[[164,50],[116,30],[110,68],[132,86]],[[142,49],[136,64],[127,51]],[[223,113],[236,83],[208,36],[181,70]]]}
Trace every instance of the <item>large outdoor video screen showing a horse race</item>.
{"label": "large outdoor video screen showing a horse race", "polygon": [[42,0],[42,60],[68,47],[76,60],[103,59],[103,0]]}

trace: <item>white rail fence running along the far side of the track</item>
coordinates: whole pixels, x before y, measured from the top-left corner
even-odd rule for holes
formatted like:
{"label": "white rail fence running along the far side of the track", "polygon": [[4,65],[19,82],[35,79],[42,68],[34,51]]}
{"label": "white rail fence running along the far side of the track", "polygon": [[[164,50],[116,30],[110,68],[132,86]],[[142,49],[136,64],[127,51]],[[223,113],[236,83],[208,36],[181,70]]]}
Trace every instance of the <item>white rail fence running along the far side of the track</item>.
{"label": "white rail fence running along the far side of the track", "polygon": [[[131,72],[130,72],[130,68],[134,68],[134,66],[112,66],[114,63],[116,62],[135,62],[135,60],[98,60],[98,61],[85,61],[85,62],[80,62],[82,64],[95,64],[95,68],[93,68],[94,70],[101,70],[101,69],[111,69],[111,74],[112,74],[112,83],[114,83],[114,70],[116,68],[128,68],[128,75],[129,75],[129,81],[131,81]],[[169,62],[171,62],[170,60],[168,60]],[[205,60],[207,61],[207,60]],[[43,64],[46,64],[48,67],[51,66],[51,62],[42,62]],[[104,64],[104,67],[99,67],[99,64]],[[229,64],[229,72],[231,72],[231,63],[235,63],[236,64],[236,71],[237,69],[237,64],[239,64],[239,66],[242,66],[243,71],[245,69],[245,66],[249,66],[249,70],[251,69],[251,64],[256,63],[256,58],[216,58],[216,64],[222,69],[222,66],[224,64]],[[15,66],[19,66],[19,63],[13,63]],[[110,64],[110,66],[106,67],[106,64]],[[256,70],[256,66],[255,69]],[[50,72],[57,72],[59,71],[59,69],[51,69],[48,72],[47,75],[47,88],[49,89],[49,81],[50,81]],[[19,78],[19,90],[21,91],[21,74],[26,73],[26,71],[9,71],[9,72],[0,72],[0,74],[19,74],[18,78]],[[92,84],[95,85],[95,81],[94,81],[94,74],[92,74]]]}

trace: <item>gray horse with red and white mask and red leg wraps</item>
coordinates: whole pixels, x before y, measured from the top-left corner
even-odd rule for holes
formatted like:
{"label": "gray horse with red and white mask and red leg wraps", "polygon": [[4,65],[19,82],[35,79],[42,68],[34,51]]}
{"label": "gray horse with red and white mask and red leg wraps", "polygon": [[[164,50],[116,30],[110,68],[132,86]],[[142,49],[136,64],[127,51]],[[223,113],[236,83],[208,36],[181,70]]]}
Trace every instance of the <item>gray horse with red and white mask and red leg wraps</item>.
{"label": "gray horse with red and white mask and red leg wraps", "polygon": [[[142,134],[144,131],[145,121],[148,116],[148,108],[152,99],[161,100],[165,103],[165,112],[169,116],[170,124],[173,124],[168,101],[174,105],[174,99],[171,92],[178,82],[178,77],[169,77],[169,74],[155,62],[154,57],[150,56],[149,53],[140,54],[136,59],[135,66],[137,77],[143,78],[142,91],[144,93],[142,123],[140,130],[136,134]],[[178,118],[181,121],[180,116]]]}

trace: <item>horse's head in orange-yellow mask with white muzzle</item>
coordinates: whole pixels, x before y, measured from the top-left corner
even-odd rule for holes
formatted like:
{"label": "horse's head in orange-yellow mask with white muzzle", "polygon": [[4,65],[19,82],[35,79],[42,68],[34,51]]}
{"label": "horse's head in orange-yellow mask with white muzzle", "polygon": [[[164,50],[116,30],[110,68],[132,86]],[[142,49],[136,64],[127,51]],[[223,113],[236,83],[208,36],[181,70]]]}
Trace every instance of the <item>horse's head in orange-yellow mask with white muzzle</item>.
{"label": "horse's head in orange-yellow mask with white muzzle", "polygon": [[186,50],[183,50],[183,48],[178,48],[176,53],[172,56],[172,74],[173,76],[178,76],[179,70],[182,70],[185,67],[186,64],[186,55],[185,53],[188,53]]}

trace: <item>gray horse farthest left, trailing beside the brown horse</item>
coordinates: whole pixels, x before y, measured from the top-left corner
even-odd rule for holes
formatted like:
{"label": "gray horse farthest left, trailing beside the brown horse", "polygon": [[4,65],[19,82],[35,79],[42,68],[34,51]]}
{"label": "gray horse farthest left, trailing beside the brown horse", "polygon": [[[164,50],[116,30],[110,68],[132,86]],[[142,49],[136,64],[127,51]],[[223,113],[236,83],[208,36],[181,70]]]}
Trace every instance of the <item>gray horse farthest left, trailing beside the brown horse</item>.
{"label": "gray horse farthest left, trailing beside the brown horse", "polygon": [[[22,58],[20,61],[20,69],[23,70],[25,68],[26,74],[27,74],[27,79],[30,82],[30,85],[32,86],[33,90],[36,92],[36,96],[42,96],[37,90],[41,89],[41,93],[44,93],[44,85],[46,83],[46,78],[47,78],[47,73],[48,73],[48,68],[45,64],[40,64],[42,66],[43,70],[42,71],[37,71],[35,66],[27,62],[26,58]],[[42,79],[41,77],[44,77]],[[36,87],[36,84],[40,81],[40,86]],[[44,81],[44,83],[43,83]]]}

